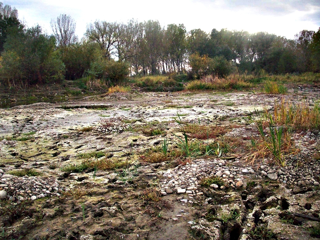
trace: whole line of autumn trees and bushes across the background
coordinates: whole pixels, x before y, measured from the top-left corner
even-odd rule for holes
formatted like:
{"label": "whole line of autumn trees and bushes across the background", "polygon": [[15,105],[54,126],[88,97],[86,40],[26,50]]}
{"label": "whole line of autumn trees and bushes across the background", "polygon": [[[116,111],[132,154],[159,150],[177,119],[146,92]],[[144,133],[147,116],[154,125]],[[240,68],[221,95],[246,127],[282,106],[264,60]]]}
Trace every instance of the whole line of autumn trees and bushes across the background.
{"label": "whole line of autumn trees and bushes across the background", "polygon": [[61,14],[52,35],[26,28],[18,11],[0,3],[0,80],[3,84],[44,84],[84,76],[110,82],[131,75],[188,73],[226,76],[231,72],[270,74],[320,71],[320,28],[294,39],[266,32],[201,29],[159,21],[90,23],[79,40],[76,23]]}

